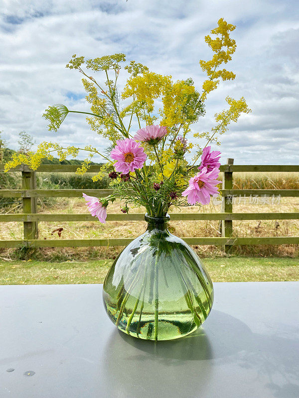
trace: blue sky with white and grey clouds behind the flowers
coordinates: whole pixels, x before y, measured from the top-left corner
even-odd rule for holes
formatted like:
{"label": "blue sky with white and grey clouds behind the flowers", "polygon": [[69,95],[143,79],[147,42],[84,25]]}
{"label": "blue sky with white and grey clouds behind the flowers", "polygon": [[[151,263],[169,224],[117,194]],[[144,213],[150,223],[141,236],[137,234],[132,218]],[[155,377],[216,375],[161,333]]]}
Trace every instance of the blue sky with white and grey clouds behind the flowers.
{"label": "blue sky with white and grey clouds behind the flowers", "polygon": [[[194,131],[209,131],[225,97],[244,96],[252,113],[222,138],[222,163],[299,164],[299,4],[297,0],[0,0],[0,130],[17,149],[19,131],[63,144],[106,144],[85,118],[69,115],[58,133],[42,118],[49,104],[86,110],[80,74],[65,68],[72,54],[122,52],[128,60],[171,74],[205,76],[211,58],[204,36],[220,17],[237,25],[237,50],[222,82],[208,96]],[[123,71],[124,72],[124,71]],[[123,79],[126,78],[124,73]],[[217,148],[218,149],[218,148]],[[80,156],[83,158],[83,155]]]}

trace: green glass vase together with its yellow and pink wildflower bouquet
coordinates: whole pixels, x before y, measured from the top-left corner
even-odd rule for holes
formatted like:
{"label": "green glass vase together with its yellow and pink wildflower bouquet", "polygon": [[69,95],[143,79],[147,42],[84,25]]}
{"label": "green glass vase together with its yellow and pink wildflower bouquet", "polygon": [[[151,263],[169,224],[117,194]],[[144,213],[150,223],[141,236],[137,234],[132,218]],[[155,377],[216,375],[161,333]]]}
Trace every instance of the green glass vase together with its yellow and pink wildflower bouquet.
{"label": "green glass vase together with its yellow and pink wildflower bouquet", "polygon": [[[118,79],[124,54],[114,54],[85,62],[74,55],[67,68],[83,75],[83,86],[90,112],[69,110],[65,105],[50,106],[44,113],[49,130],[57,131],[69,113],[85,113],[91,129],[108,141],[104,152],[87,144],[83,148],[63,147],[42,142],[36,152],[14,154],[5,170],[21,163],[36,169],[43,158],[60,160],[88,152],[77,173],[88,171],[91,159],[105,160],[94,181],[109,174],[112,194],[95,198],[83,194],[93,216],[106,220],[106,209],[116,199],[121,210],[144,206],[148,229],[134,239],[117,257],[103,285],[104,305],[110,319],[122,331],[148,340],[168,340],[196,330],[208,316],[213,304],[212,281],[193,250],[167,229],[171,206],[204,205],[217,194],[220,152],[219,135],[248,113],[244,98],[227,97],[229,108],[215,114],[216,125],[210,132],[191,134],[191,125],[205,114],[207,95],[220,79],[233,80],[235,75],[223,64],[231,60],[236,49],[230,32],[235,26],[223,18],[205,37],[214,55],[200,61],[207,80],[198,92],[192,79],[173,82],[135,61],[125,66],[129,78],[119,94]],[[84,65],[86,68],[84,68]],[[101,72],[104,82],[90,76]],[[192,151],[192,161],[188,162]],[[191,157],[191,155],[190,155]]]}

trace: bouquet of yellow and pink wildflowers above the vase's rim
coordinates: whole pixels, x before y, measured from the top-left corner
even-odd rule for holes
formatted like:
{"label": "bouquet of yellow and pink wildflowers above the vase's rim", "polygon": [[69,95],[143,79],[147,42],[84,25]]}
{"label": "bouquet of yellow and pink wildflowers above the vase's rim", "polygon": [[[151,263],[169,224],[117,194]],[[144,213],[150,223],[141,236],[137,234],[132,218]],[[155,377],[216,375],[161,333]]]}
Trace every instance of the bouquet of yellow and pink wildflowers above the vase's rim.
{"label": "bouquet of yellow and pink wildflowers above the vase's rim", "polygon": [[[124,213],[129,212],[130,206],[144,206],[150,216],[157,217],[165,216],[170,206],[209,203],[218,192],[220,166],[220,152],[211,151],[211,144],[220,145],[219,135],[227,131],[231,121],[236,122],[242,112],[248,113],[250,109],[243,97],[227,97],[229,108],[215,114],[216,125],[210,132],[191,134],[191,125],[204,116],[207,95],[217,88],[220,79],[235,78],[233,72],[221,69],[236,49],[235,40],[230,37],[234,29],[234,25],[221,18],[211,30],[216,37],[205,37],[214,55],[209,61],[199,62],[207,74],[200,92],[192,79],[173,82],[171,76],[150,72],[148,67],[131,61],[124,68],[130,76],[120,94],[118,78],[126,62],[125,54],[87,61],[73,55],[66,67],[83,75],[91,112],[69,110],[59,104],[49,106],[43,116],[49,120],[49,130],[57,131],[69,113],[87,114],[91,129],[108,141],[107,148],[100,152],[89,144],[80,148],[42,142],[36,152],[13,154],[5,170],[21,163],[37,169],[43,158],[53,158],[53,152],[64,160],[70,155],[76,157],[82,150],[88,156],[77,173],[83,174],[93,156],[101,156],[105,164],[93,181],[109,174],[113,193],[106,198],[83,194],[92,215],[101,222],[106,220],[109,202],[116,199],[122,201]],[[89,71],[101,72],[104,81],[96,80]],[[187,157],[191,151],[193,158],[189,164]]]}

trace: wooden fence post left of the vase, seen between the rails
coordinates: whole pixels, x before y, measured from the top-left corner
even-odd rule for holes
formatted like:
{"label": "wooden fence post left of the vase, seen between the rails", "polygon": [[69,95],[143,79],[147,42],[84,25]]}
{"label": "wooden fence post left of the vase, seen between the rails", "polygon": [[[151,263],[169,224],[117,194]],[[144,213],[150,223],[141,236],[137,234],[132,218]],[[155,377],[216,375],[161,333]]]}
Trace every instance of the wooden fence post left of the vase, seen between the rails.
{"label": "wooden fence post left of the vase, seen between the rails", "polygon": [[[22,189],[35,190],[36,189],[36,174],[27,166],[23,166],[22,171]],[[36,213],[36,198],[22,198],[23,213]],[[38,227],[37,221],[24,221],[24,240],[37,239]]]}

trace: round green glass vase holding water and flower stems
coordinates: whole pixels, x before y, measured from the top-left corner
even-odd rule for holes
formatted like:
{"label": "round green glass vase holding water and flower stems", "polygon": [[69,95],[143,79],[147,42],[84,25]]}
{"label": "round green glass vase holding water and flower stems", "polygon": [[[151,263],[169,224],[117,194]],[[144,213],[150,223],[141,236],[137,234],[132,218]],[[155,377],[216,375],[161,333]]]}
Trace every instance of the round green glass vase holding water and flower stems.
{"label": "round green glass vase holding water and flower stems", "polygon": [[148,228],[116,258],[103,287],[106,311],[131,336],[170,340],[207,318],[213,284],[195,252],[167,229],[169,215],[145,215]]}

